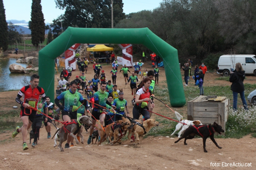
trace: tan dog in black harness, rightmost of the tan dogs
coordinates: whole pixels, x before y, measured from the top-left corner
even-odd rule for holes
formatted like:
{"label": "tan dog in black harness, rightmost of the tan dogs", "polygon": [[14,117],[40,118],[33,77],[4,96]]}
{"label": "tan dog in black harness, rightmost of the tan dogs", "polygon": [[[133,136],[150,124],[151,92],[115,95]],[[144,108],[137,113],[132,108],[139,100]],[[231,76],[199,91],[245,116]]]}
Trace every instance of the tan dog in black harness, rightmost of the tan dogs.
{"label": "tan dog in black harness, rightmost of the tan dogs", "polygon": [[[135,134],[135,143],[134,144],[140,144],[140,137],[142,135],[145,134],[145,132],[149,132],[149,130],[155,126],[159,126],[160,122],[157,122],[155,119],[148,119],[145,120],[144,122],[141,122],[139,120],[134,120],[136,122],[140,122],[140,124],[143,125],[143,127],[145,128],[145,131],[142,127],[140,127],[137,124],[134,124],[133,128],[132,128],[132,132],[134,132]],[[130,131],[128,134],[128,137],[130,136]]]}

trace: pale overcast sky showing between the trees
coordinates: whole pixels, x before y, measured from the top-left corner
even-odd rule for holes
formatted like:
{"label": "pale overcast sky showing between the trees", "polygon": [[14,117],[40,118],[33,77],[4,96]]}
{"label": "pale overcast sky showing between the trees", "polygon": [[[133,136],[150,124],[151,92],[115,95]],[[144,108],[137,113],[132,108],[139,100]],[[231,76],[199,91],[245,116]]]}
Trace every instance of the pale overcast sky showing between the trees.
{"label": "pale overcast sky showing between the trees", "polygon": [[[6,20],[12,20],[13,24],[27,26],[31,16],[32,0],[3,0]],[[124,13],[153,10],[159,6],[162,0],[123,0]],[[41,0],[45,23],[51,23],[53,19],[65,11],[56,9],[54,0]],[[16,20],[16,21],[15,21]]]}

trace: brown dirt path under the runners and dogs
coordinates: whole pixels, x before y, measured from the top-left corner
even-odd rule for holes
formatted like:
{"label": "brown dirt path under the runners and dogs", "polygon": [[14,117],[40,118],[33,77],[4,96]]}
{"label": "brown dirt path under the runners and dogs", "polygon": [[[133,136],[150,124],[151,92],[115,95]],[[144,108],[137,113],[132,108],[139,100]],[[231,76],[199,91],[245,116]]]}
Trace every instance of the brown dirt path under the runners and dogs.
{"label": "brown dirt path under the runners and dogs", "polygon": [[[143,68],[150,69],[150,65]],[[107,75],[107,79],[111,78],[111,66],[103,66],[103,70]],[[120,68],[118,68],[119,72]],[[132,69],[130,69],[132,70]],[[183,74],[183,71],[181,72]],[[79,75],[78,71],[72,73],[72,79]],[[94,72],[92,64],[89,65],[86,78],[92,79]],[[55,86],[57,85],[57,76],[55,78]],[[218,80],[215,78],[219,75],[207,73],[204,85],[230,85],[228,81]],[[140,78],[141,79],[141,78]],[[248,76],[245,83],[252,83],[256,78]],[[159,85],[165,83],[164,69],[160,68]],[[191,82],[189,82],[190,84]],[[117,75],[118,89],[124,88],[124,78],[122,74]],[[191,83],[192,84],[192,83]],[[0,93],[0,110],[12,110],[12,106],[16,105],[16,91]],[[124,98],[128,101],[130,113],[132,113],[131,100],[133,98],[129,85],[124,88]],[[160,112],[163,105],[156,101],[154,111]],[[187,107],[176,108],[181,114],[187,114]],[[1,112],[0,112],[1,113]],[[132,115],[132,114],[131,114]],[[153,115],[153,118],[155,115]],[[19,118],[17,118],[19,119]],[[61,125],[57,125],[58,128]],[[161,128],[161,127],[159,127]],[[55,132],[52,126],[52,133]],[[218,149],[210,139],[206,141],[206,149],[208,153],[203,151],[203,142],[201,138],[188,140],[188,145],[183,144],[183,140],[174,144],[178,138],[170,137],[148,137],[141,140],[139,145],[133,145],[129,141],[123,144],[110,146],[104,143],[101,146],[87,145],[88,134],[83,131],[85,144],[75,144],[75,147],[59,149],[53,147],[53,139],[47,139],[45,128],[40,130],[40,140],[38,145],[33,149],[30,145],[27,151],[22,151],[21,134],[16,138],[10,138],[12,131],[1,133],[1,141],[9,139],[9,142],[2,142],[0,148],[0,170],[23,170],[23,169],[73,169],[73,170],[148,170],[148,169],[220,169],[211,166],[212,163],[220,163],[222,169],[255,169],[255,138],[251,135],[241,139],[216,139],[217,143],[222,147]],[[29,138],[29,136],[28,136]],[[27,138],[27,139],[28,139]],[[27,141],[28,142],[28,141]],[[62,144],[64,147],[64,144]],[[252,163],[252,167],[222,167],[221,163]]]}

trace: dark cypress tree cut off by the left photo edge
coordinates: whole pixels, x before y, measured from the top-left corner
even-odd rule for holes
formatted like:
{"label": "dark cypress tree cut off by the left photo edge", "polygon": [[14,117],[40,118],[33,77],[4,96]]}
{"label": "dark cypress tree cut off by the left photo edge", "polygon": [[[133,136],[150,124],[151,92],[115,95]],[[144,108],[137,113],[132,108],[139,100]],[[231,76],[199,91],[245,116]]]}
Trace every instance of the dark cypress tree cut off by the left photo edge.
{"label": "dark cypress tree cut off by the left photo edge", "polygon": [[5,19],[5,9],[3,0],[0,0],[0,48],[7,50],[8,48],[8,26]]}

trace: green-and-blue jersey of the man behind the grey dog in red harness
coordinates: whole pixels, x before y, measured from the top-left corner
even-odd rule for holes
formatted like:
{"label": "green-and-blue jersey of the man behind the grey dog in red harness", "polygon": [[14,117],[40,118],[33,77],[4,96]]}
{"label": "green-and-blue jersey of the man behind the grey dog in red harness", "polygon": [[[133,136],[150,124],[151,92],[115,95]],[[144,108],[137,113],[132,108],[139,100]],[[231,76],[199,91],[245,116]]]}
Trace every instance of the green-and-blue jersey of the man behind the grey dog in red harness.
{"label": "green-and-blue jersey of the man behind the grey dog in red harness", "polygon": [[[64,99],[64,111],[66,112],[74,112],[78,108],[79,100],[84,100],[83,96],[79,92],[72,93],[69,90],[62,92],[58,97],[58,100]],[[82,103],[81,103],[82,104]],[[80,105],[79,105],[80,106]]]}

